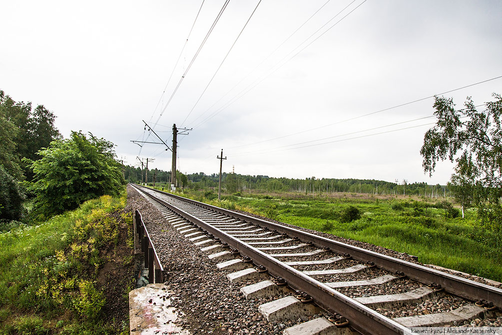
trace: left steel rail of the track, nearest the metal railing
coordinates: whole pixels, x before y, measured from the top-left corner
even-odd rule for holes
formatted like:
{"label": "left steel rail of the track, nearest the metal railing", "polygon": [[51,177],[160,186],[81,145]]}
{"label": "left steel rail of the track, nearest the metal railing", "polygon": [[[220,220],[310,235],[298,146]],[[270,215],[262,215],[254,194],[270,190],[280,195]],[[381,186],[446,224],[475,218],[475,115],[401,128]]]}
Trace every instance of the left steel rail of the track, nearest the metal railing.
{"label": "left steel rail of the track, nearest the metal railing", "polygon": [[[135,185],[136,186],[136,185]],[[278,261],[274,257],[244,243],[233,236],[211,226],[204,220],[193,216],[190,213],[166,202],[150,193],[147,193],[155,201],[170,208],[193,224],[199,226],[204,231],[212,234],[216,238],[224,241],[230,247],[237,249],[243,256],[253,260],[256,265],[262,265],[275,275],[285,279],[290,287],[302,290],[312,296],[315,302],[327,310],[337,312],[350,321],[350,326],[362,334],[389,335],[407,333],[408,328],[396,321],[364,306],[363,304],[347,297],[344,294],[330,288],[301,271]],[[233,213],[233,212],[232,212]]]}

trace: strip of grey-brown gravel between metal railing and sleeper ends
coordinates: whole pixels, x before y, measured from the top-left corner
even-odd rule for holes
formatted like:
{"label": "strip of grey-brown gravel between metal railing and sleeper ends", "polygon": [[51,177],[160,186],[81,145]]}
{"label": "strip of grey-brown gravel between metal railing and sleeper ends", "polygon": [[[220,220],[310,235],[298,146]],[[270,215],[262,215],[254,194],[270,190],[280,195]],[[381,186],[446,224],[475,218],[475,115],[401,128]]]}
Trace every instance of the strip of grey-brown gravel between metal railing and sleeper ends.
{"label": "strip of grey-brown gravel between metal railing and sleeper ends", "polygon": [[229,271],[218,270],[216,262],[210,261],[199,247],[181,237],[160,211],[131,186],[128,186],[128,203],[143,215],[168,273],[166,284],[178,297],[172,300],[172,305],[185,313],[179,325],[192,334],[266,335],[282,334],[285,328],[297,323],[298,320],[268,322],[258,311],[258,306],[273,299],[246,300],[239,289],[254,282],[231,284],[225,277]]}

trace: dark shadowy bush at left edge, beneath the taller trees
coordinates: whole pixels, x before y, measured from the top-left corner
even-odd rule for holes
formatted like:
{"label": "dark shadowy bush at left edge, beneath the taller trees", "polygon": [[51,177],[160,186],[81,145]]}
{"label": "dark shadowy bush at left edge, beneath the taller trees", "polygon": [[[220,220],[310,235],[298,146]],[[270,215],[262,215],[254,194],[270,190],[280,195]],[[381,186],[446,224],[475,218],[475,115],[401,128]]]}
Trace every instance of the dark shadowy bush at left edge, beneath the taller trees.
{"label": "dark shadowy bush at left edge, beneath the taller trees", "polygon": [[0,221],[21,220],[25,213],[25,198],[19,183],[0,166]]}

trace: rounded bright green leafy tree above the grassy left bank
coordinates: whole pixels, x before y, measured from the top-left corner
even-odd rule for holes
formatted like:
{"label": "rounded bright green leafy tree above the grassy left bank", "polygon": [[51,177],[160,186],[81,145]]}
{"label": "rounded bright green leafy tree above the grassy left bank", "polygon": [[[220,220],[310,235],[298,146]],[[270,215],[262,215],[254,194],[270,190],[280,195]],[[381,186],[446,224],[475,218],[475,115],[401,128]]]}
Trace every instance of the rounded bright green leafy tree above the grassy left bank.
{"label": "rounded bright green leafy tree above the grassy left bank", "polygon": [[70,139],[53,141],[41,150],[42,159],[32,162],[36,194],[35,212],[50,216],[74,209],[85,200],[122,189],[121,166],[115,161],[113,144],[92,134],[72,132]]}

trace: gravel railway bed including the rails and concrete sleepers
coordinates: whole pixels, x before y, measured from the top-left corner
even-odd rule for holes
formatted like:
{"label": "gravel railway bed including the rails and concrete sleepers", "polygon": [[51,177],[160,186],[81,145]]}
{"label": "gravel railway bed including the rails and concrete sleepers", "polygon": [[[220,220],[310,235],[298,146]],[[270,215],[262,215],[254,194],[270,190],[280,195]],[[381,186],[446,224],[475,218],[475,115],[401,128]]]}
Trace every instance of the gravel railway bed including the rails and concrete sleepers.
{"label": "gravel railway bed including the rails and concrete sleepers", "polygon": [[[427,269],[413,257],[375,254],[168,194],[146,196],[148,189],[139,190],[144,197],[135,192],[130,199],[163,264],[170,303],[184,315],[177,325],[193,333],[404,333],[411,326],[499,326],[502,320],[490,301],[473,300],[497,302],[498,288]],[[364,325],[367,316],[374,328]]]}

